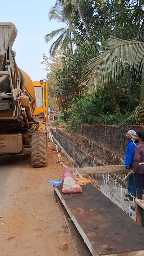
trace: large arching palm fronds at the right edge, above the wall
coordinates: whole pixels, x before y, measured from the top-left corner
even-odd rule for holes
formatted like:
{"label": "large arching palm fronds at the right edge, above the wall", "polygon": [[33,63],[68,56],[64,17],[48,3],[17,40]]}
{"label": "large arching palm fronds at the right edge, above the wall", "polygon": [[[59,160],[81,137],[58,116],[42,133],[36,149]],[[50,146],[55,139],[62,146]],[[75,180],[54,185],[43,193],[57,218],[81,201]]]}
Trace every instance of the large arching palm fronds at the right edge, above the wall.
{"label": "large arching palm fronds at the right edge, above the wall", "polygon": [[[121,20],[133,26],[139,26],[138,41],[121,40],[110,37],[107,40],[105,53],[92,59],[87,64],[86,77],[89,80],[90,88],[95,90],[95,79],[98,86],[107,84],[110,74],[112,79],[117,79],[119,72],[125,66],[132,75],[141,76],[140,100],[144,100],[144,10],[141,4],[134,6],[133,9],[126,9],[121,12]],[[92,86],[92,87],[91,87]]]}

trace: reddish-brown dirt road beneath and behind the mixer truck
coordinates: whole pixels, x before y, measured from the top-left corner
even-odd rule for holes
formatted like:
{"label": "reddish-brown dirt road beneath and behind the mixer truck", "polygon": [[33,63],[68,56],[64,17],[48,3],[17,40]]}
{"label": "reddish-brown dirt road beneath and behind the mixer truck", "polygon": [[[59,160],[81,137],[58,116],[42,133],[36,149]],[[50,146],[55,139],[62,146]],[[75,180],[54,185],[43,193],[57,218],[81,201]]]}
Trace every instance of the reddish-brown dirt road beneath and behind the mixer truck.
{"label": "reddish-brown dirt road beneath and behind the mixer truck", "polygon": [[[63,172],[55,146],[49,142],[48,148],[48,166],[41,169],[31,167],[30,156],[0,158],[0,256],[78,255],[47,184]],[[65,251],[60,249],[63,242],[68,244]]]}

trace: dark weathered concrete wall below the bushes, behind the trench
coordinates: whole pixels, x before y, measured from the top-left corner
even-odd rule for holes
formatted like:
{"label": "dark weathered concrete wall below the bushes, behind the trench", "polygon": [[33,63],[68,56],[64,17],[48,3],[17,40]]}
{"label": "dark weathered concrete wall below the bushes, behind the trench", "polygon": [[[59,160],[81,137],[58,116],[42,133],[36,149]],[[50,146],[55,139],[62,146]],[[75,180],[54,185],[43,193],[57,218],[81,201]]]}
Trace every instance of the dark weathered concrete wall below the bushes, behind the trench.
{"label": "dark weathered concrete wall below the bushes, behind the trench", "polygon": [[144,126],[138,125],[124,125],[118,127],[109,125],[82,124],[77,126],[77,134],[81,134],[82,136],[94,140],[95,142],[102,143],[112,151],[116,151],[117,153],[121,154],[121,156],[124,156],[127,145],[125,134],[130,129],[135,130],[136,133],[144,133]]}

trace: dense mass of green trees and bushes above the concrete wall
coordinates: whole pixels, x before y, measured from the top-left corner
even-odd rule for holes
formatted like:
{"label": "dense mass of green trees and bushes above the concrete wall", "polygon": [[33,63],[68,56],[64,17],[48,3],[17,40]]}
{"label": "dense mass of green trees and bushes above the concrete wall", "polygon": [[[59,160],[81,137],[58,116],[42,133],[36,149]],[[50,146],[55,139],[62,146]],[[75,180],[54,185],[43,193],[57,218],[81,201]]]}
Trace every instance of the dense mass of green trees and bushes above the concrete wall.
{"label": "dense mass of green trees and bushes above the concrete wall", "polygon": [[[141,118],[144,113],[143,106],[140,105],[139,108],[135,109],[139,104],[140,95],[142,95],[141,80],[135,76],[135,73],[139,71],[136,68],[136,62],[141,65],[138,56],[142,58],[143,51],[141,46],[138,46],[138,43],[134,47],[134,43],[123,41],[135,40],[141,24],[133,19],[135,11],[133,12],[134,15],[132,14],[133,16],[130,11],[128,12],[128,18],[133,19],[132,26],[130,26],[127,18],[122,19],[126,9],[137,8],[136,6],[140,5],[141,1],[79,0],[79,2],[90,29],[89,35],[86,33],[75,1],[57,0],[55,5],[57,8],[63,5],[63,18],[68,17],[68,19],[66,18],[68,20],[68,27],[70,26],[73,29],[73,40],[70,38],[69,42],[71,42],[71,45],[72,43],[75,45],[74,54],[63,51],[61,56],[56,57],[48,74],[49,91],[52,91],[52,93],[49,93],[49,97],[54,97],[55,104],[58,104],[60,108],[60,115],[56,125],[60,121],[64,121],[67,123],[68,129],[75,132],[77,123],[118,125],[125,120],[130,122],[131,118],[133,122],[143,122],[143,118]],[[54,13],[52,14],[54,17]],[[55,16],[55,18],[58,17]],[[125,50],[122,51],[124,46],[120,46],[119,50],[115,50],[114,58],[112,54],[111,56],[109,55],[110,57],[105,57],[103,66],[99,65],[99,80],[101,80],[101,83],[104,80],[106,86],[99,86],[99,89],[93,90],[95,85],[98,84],[98,80],[95,77],[94,86],[91,90],[94,93],[90,91],[88,93],[87,81],[82,81],[82,73],[89,60],[98,57],[101,53],[104,53],[104,56],[106,55],[106,40],[109,36],[120,37],[122,40],[118,40],[118,44],[125,45],[126,52],[135,49],[135,53],[138,53],[138,48],[140,48],[140,53],[136,55],[136,59],[133,58],[134,61],[132,63],[134,50],[131,51],[132,54],[129,58],[125,54]],[[116,44],[117,42],[115,41],[114,46]],[[126,44],[129,45],[126,46]],[[112,48],[113,42],[111,41],[110,49]],[[123,63],[118,68],[120,59],[129,64],[126,66],[126,69],[123,68]],[[91,61],[92,73],[89,73],[90,76],[95,73],[94,61],[94,59]],[[101,57],[99,61],[102,61]],[[116,74],[112,71],[113,68],[114,71],[117,71]],[[110,69],[112,72],[110,72]],[[88,72],[90,72],[89,68]],[[134,74],[133,77],[132,74]]]}

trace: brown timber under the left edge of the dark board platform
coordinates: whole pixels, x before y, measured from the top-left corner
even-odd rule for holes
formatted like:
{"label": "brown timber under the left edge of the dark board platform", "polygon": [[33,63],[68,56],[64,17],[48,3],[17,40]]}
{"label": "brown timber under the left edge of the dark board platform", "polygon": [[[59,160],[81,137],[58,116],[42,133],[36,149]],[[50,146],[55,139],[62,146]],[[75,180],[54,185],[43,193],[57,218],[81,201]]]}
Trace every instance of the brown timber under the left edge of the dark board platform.
{"label": "brown timber under the left edge of the dark board platform", "polygon": [[73,221],[71,220],[68,212],[66,211],[66,209],[64,208],[62,202],[60,201],[57,193],[54,190],[54,197],[58,203],[58,206],[60,208],[60,211],[63,215],[63,218],[67,224],[68,230],[74,240],[74,243],[76,245],[77,251],[81,256],[91,256],[91,252],[89,251],[88,247],[86,246],[86,244],[84,243],[84,240],[82,239],[80,233],[78,232],[78,230],[76,229],[75,224],[73,223]]}

